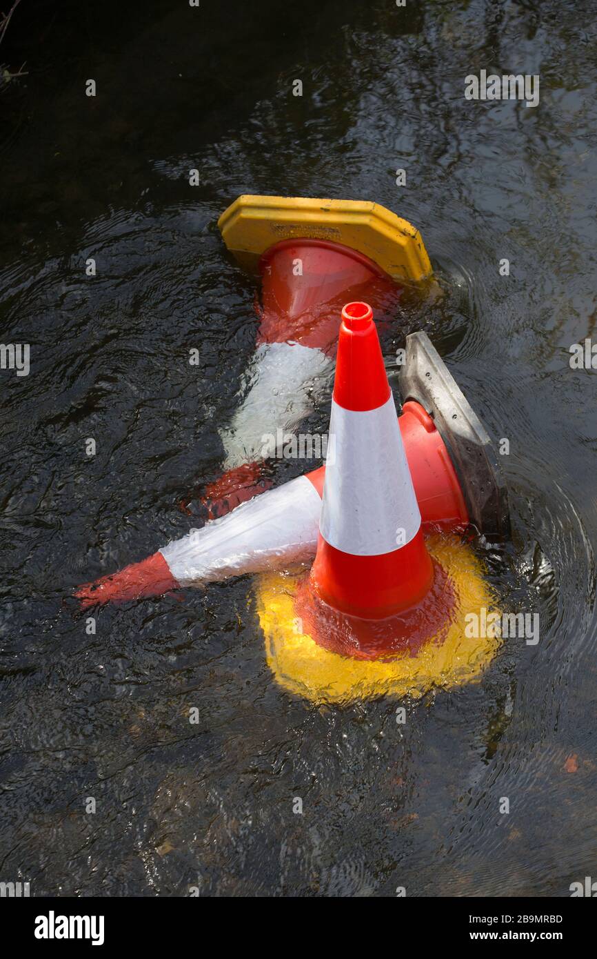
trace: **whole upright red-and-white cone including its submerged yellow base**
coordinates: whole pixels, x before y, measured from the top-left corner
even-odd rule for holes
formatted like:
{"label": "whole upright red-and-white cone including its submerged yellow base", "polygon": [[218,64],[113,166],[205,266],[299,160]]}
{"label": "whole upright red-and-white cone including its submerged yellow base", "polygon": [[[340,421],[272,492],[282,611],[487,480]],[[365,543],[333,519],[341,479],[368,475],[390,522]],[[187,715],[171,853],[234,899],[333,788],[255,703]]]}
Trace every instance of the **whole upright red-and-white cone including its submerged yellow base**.
{"label": "whole upright red-and-white cone including its submerged yellow base", "polygon": [[[268,662],[284,686],[315,699],[404,691],[413,668],[403,667],[412,659],[427,688],[443,675],[445,643],[456,666],[464,655],[471,610],[462,597],[479,598],[480,611],[483,602],[492,605],[491,594],[471,553],[468,584],[464,553],[452,573],[426,549],[373,313],[364,303],[342,311],[330,433],[333,458],[310,574],[294,582],[289,606],[284,576],[259,587]],[[467,663],[482,665],[486,652],[486,639],[472,643]]]}

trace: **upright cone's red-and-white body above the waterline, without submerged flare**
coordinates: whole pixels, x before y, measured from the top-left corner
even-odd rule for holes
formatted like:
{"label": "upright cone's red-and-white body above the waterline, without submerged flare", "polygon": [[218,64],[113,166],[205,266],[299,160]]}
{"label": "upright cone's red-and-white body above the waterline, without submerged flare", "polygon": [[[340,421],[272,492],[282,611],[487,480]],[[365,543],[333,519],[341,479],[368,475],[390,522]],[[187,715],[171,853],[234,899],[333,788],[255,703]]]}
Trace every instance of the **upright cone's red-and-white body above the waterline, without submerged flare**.
{"label": "upright cone's red-and-white body above the waterline, without submerged flare", "polygon": [[421,513],[371,307],[342,310],[324,485],[310,583],[334,609],[382,620],[431,589]]}

